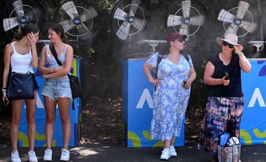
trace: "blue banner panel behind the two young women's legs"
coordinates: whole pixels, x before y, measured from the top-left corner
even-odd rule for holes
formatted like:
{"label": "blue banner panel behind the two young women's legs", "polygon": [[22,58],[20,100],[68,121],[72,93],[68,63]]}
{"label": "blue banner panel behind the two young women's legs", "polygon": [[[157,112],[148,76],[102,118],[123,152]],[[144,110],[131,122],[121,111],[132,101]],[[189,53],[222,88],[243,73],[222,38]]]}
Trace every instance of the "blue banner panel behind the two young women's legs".
{"label": "blue banner panel behind the two young women's legs", "polygon": [[[71,74],[79,77],[80,75],[80,59],[73,60]],[[44,125],[45,125],[45,109],[43,103],[43,97],[41,96],[41,89],[45,79],[40,78],[40,74],[37,69],[34,69],[34,74],[38,86],[40,87],[37,91],[36,99],[36,111],[35,111],[35,123],[36,123],[36,136],[35,136],[35,147],[46,147],[45,136],[44,136]],[[81,84],[80,84],[81,85]],[[74,110],[72,110],[72,103],[70,102],[70,121],[71,121],[71,137],[69,141],[69,147],[76,147],[79,145],[81,140],[81,99],[74,99]],[[27,121],[26,121],[26,107],[23,102],[21,121],[18,128],[18,146],[29,147],[27,140]],[[54,135],[52,139],[52,147],[62,147],[62,126],[59,115],[58,107],[56,106],[56,117],[54,124]]]}

